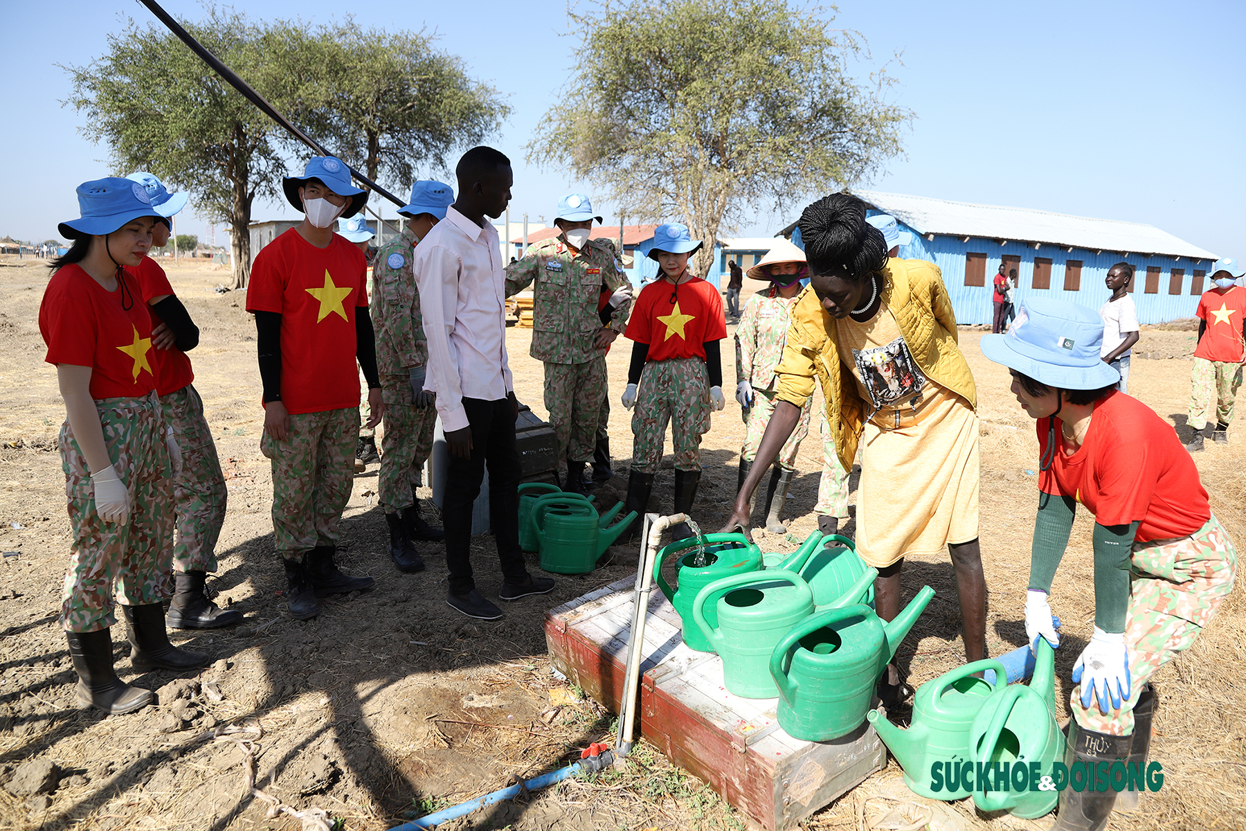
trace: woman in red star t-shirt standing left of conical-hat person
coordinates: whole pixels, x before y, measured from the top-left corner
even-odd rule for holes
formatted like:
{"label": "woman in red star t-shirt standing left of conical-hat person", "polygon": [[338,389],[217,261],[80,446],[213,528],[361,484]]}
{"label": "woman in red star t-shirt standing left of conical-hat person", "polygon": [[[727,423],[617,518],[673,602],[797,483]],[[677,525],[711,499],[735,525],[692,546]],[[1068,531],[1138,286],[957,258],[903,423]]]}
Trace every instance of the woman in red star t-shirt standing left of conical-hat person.
{"label": "woman in red star t-shirt standing left of conical-hat person", "polygon": [[[692,512],[700,482],[700,437],[709,430],[710,409],[723,409],[719,341],[726,338],[726,319],[718,289],[688,269],[688,258],[700,247],[688,226],[658,226],[649,258],[658,262],[660,277],[640,289],[623,333],[633,341],[623,406],[635,406],[623,511],[635,511],[637,520],[628,536],[640,528],[668,421],[675,451],[675,513]],[[679,523],[672,534],[682,539],[692,531]]]}

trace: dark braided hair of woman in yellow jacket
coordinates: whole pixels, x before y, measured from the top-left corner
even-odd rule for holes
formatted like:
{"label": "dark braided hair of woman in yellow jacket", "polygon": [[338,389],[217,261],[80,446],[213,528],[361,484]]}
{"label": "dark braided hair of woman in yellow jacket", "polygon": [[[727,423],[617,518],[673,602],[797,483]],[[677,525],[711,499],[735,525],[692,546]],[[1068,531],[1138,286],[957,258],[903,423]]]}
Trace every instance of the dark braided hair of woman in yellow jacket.
{"label": "dark braided hair of woman in yellow jacket", "polygon": [[887,240],[865,221],[866,203],[849,193],[832,193],[800,214],[800,235],[814,274],[847,272],[860,283],[887,264]]}

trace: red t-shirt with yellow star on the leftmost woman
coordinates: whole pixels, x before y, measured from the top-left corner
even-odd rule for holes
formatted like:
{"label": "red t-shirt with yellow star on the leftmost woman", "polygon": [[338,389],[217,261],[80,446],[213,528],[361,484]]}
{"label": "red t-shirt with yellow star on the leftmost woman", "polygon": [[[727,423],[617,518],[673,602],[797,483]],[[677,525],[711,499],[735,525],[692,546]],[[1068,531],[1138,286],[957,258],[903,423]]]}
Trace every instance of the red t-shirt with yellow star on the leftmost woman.
{"label": "red t-shirt with yellow star on the leftmost woman", "polygon": [[152,319],[125,272],[112,292],[76,264],[52,274],[39,306],[39,331],[49,364],[91,368],[92,399],[133,399],[156,389]]}

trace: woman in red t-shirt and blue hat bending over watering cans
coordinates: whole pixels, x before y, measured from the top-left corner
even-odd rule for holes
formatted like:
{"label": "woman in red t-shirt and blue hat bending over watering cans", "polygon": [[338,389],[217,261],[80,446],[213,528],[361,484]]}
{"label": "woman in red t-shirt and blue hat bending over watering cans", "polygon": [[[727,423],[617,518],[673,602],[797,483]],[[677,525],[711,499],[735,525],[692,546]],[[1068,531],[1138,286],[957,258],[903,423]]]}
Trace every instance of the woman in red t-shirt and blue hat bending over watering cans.
{"label": "woman in red t-shirt and blue hat bending over watering cans", "polygon": [[1059,645],[1052,581],[1078,503],[1095,517],[1094,634],[1073,668],[1070,781],[1055,825],[1065,830],[1101,829],[1118,799],[1136,805],[1136,791],[1079,787],[1079,776],[1126,756],[1145,770],[1156,700],[1149,679],[1189,649],[1237,569],[1190,455],[1171,425],[1115,389],[1116,370],[1099,358],[1101,340],[1098,313],[1045,298],[1024,300],[1007,335],[982,338],[983,354],[1012,370],[1012,391],[1038,422],[1030,648],[1039,637]]}

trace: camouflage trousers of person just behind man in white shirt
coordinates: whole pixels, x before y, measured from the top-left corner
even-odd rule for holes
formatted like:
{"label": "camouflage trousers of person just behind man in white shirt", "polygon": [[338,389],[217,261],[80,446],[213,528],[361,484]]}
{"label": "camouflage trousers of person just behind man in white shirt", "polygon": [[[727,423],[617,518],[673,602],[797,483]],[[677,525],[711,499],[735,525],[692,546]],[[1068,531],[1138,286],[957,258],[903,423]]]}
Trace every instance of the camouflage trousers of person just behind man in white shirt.
{"label": "camouflage trousers of person just behind man in white shirt", "polygon": [[381,437],[384,453],[378,500],[385,513],[401,513],[402,508],[415,505],[415,488],[432,451],[437,407],[432,404],[415,406],[406,375],[383,375],[381,397],[385,401],[385,435]]}

